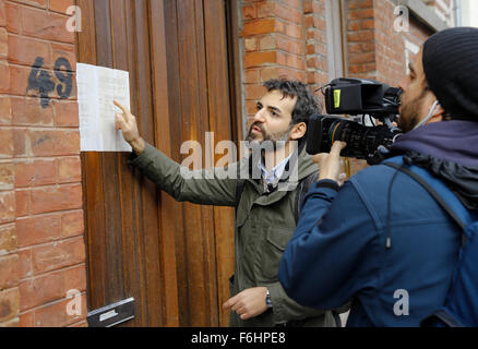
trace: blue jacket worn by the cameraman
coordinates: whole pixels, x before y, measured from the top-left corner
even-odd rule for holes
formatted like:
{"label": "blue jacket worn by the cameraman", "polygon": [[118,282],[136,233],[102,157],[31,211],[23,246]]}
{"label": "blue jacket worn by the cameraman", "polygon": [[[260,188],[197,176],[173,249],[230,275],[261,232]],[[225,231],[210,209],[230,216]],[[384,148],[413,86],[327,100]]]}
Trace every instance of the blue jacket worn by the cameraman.
{"label": "blue jacket worn by the cameraman", "polygon": [[384,165],[338,192],[321,184],[304,197],[280,262],[287,294],[319,309],[351,300],[347,326],[418,326],[444,303],[462,230],[420,184]]}

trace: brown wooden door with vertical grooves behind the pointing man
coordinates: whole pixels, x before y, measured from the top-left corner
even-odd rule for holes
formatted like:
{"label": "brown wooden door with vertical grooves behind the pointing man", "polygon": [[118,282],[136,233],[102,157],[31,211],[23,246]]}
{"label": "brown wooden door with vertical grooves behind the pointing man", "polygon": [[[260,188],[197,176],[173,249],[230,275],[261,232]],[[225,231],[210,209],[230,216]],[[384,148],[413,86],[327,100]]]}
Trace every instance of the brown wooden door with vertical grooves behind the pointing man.
{"label": "brown wooden door with vertical grooves behind the pointing man", "polygon": [[[240,134],[226,1],[76,2],[79,62],[130,72],[148,143],[181,163],[184,141],[204,148],[207,131],[215,143]],[[234,210],[176,203],[127,160],[82,154],[88,311],[134,297],[135,318],[122,326],[227,326]]]}

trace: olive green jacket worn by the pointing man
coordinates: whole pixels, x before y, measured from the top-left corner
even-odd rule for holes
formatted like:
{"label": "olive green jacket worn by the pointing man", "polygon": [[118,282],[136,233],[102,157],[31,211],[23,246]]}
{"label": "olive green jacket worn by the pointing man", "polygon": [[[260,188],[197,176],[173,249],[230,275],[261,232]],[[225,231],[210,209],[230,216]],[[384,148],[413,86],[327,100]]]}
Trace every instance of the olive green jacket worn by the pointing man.
{"label": "olive green jacket worn by the pointing man", "polygon": [[[140,156],[132,156],[129,163],[176,201],[217,206],[236,206],[239,173],[247,173],[248,168],[250,172],[256,166],[251,159],[232,164],[227,168],[228,173],[238,176],[229,178],[225,178],[224,169],[218,168],[190,171],[150,144]],[[303,149],[298,157],[299,181],[315,171],[316,165]],[[248,321],[240,320],[231,311],[230,326],[270,327],[283,323],[335,326],[331,311],[299,305],[286,296],[277,278],[280,257],[296,228],[294,207],[297,184],[292,183],[290,191],[276,190],[266,194],[262,179],[246,179],[236,215],[236,266],[235,276],[229,280],[230,292],[232,297],[247,288],[265,286],[273,308]]]}

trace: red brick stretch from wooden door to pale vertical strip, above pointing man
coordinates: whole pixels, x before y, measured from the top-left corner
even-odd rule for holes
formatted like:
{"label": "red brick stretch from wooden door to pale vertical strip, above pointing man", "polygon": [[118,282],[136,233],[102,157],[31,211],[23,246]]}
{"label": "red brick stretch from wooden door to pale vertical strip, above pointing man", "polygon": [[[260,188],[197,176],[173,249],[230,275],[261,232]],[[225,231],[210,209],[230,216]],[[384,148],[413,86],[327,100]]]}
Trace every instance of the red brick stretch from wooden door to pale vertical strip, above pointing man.
{"label": "red brick stretch from wooden door to pale vertical strip, above pointing man", "polygon": [[241,7],[246,113],[270,79],[326,81],[323,0],[244,0]]}

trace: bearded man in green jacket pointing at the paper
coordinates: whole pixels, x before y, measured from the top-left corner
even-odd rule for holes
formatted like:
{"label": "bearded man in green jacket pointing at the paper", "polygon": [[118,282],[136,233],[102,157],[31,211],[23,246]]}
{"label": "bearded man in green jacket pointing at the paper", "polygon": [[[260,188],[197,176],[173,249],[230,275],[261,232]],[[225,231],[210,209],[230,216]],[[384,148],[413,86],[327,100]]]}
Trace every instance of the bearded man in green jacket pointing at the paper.
{"label": "bearded man in green jacket pointing at the paper", "polygon": [[[229,280],[231,298],[223,304],[231,310],[231,326],[335,326],[337,316],[331,311],[297,304],[277,279],[283,251],[296,227],[294,207],[301,183],[316,179],[304,135],[309,117],[320,107],[300,82],[271,80],[264,86],[267,93],[248,121],[252,154],[230,165],[232,171],[227,172],[234,178],[224,178],[219,168],[193,173],[181,168],[148,145],[135,118],[115,101],[123,111],[117,115],[117,128],[133,148],[130,164],[175,200],[237,207],[235,276]],[[244,169],[246,179],[240,176]],[[291,173],[297,174],[295,180],[289,179]]]}

